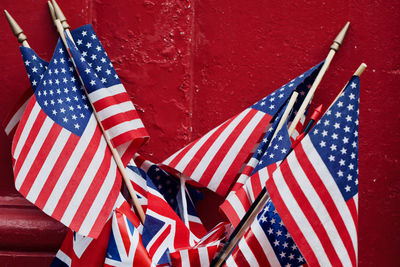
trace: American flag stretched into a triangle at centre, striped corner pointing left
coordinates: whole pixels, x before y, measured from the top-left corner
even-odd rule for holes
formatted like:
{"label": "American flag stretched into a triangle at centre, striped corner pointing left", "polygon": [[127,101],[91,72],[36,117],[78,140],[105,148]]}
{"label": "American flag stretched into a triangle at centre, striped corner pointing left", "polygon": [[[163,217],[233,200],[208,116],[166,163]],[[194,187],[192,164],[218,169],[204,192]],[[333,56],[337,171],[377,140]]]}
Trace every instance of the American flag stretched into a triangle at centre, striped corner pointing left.
{"label": "American flag stretched into a triangle at centre, striped corner pointing left", "polygon": [[183,173],[210,190],[225,195],[243,164],[293,90],[321,64],[311,68],[243,112],[190,143],[163,164]]}

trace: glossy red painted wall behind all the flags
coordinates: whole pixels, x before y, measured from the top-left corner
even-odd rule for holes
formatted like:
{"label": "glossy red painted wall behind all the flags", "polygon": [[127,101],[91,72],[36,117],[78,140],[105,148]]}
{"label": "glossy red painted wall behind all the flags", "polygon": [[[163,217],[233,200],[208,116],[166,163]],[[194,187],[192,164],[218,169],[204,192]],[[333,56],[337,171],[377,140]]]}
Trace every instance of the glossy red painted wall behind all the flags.
{"label": "glossy red painted wall behind all the flags", "polygon": [[[46,1],[2,0],[39,55],[57,34]],[[334,99],[361,62],[360,266],[393,266],[400,251],[400,3],[388,1],[59,1],[74,27],[92,23],[151,135],[141,152],[161,161],[272,92],[328,53],[351,28],[314,104]],[[0,19],[0,119],[29,86],[16,39]],[[0,133],[0,265],[46,266],[65,228],[14,189]],[[222,219],[207,192],[208,227]],[[205,212],[214,206],[213,215]],[[397,253],[397,254],[396,254]]]}

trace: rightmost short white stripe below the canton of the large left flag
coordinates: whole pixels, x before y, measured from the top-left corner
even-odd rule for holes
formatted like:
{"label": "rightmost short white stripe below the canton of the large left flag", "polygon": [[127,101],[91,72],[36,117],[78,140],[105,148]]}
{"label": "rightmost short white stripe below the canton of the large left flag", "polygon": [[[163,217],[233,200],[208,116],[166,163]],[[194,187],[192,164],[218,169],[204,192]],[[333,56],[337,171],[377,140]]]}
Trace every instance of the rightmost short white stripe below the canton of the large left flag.
{"label": "rightmost short white stripe below the canton of the large left flag", "polygon": [[61,132],[58,135],[57,140],[55,141],[55,144],[57,145],[52,146],[50,153],[47,155],[46,160],[44,161],[42,167],[40,168],[40,171],[36,176],[36,179],[33,182],[28,195],[26,196],[26,198],[32,203],[36,202],[36,199],[38,198],[40,191],[42,190],[44,184],[49,178],[49,174],[54,167],[54,159],[61,154],[70,135],[71,135],[70,131],[65,130],[64,128],[61,129]]}

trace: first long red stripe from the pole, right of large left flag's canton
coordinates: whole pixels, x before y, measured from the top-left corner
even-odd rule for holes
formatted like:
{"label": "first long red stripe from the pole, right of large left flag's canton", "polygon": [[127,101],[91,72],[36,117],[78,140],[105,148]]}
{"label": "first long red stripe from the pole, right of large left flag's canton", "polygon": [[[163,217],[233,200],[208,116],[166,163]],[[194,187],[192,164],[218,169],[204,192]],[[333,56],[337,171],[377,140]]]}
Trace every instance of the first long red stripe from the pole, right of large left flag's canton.
{"label": "first long red stripe from the pole, right of large left flag's canton", "polygon": [[100,132],[100,128],[96,127],[96,130],[90,140],[90,143],[87,146],[87,149],[83,153],[80,159],[73,159],[78,161],[79,163],[75,168],[74,173],[71,175],[71,179],[69,180],[67,186],[62,193],[56,208],[51,215],[56,220],[60,220],[64,215],[65,210],[67,209],[74,193],[81,183],[82,178],[85,176],[85,172],[89,167],[89,164],[92,162],[92,158],[95,155],[97,149],[99,148],[99,143],[102,138],[102,134]]}

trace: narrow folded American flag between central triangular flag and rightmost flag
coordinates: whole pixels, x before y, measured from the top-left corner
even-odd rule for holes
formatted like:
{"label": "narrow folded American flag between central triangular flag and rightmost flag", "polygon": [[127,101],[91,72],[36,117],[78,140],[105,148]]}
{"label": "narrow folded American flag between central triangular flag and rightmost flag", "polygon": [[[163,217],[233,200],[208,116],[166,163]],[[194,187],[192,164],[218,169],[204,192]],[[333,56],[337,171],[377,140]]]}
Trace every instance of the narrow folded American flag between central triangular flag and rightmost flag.
{"label": "narrow folded American flag between central triangular flag and rightmost flag", "polygon": [[[306,97],[312,83],[314,82],[321,66],[322,65],[319,65],[317,71],[312,72],[308,77],[303,76],[303,81],[296,86],[295,91],[299,93],[299,96],[297,97],[291,114],[289,114],[289,122],[294,119],[297,110],[303,103],[303,100]],[[265,185],[266,179],[276,169],[276,163],[280,162],[280,160],[282,160],[290,150],[291,138],[289,139],[287,132],[287,123],[285,123],[281,129],[282,132],[279,133],[277,138],[274,140],[274,144],[272,145],[274,148],[270,148],[271,138],[275,133],[275,129],[278,126],[285,109],[286,105],[274,117],[271,126],[263,137],[252,158],[248,161],[236,184],[220,206],[221,210],[234,226],[238,225],[241,218],[250,208],[250,205],[253,203],[254,199],[261,192]],[[304,122],[304,118],[302,121]],[[296,128],[302,127],[303,126],[301,125]],[[276,153],[278,147],[281,149],[281,153]],[[268,149],[270,149],[270,152],[268,152]],[[268,154],[268,156],[266,154]],[[264,167],[267,167],[267,169],[264,170],[267,172],[265,174],[261,173],[260,176],[257,171]]]}

